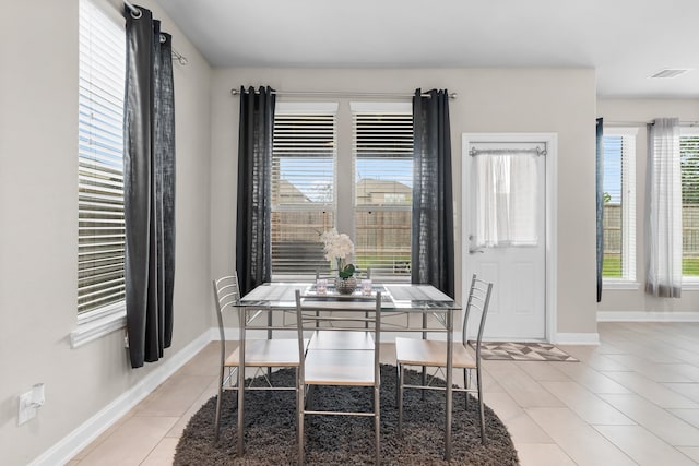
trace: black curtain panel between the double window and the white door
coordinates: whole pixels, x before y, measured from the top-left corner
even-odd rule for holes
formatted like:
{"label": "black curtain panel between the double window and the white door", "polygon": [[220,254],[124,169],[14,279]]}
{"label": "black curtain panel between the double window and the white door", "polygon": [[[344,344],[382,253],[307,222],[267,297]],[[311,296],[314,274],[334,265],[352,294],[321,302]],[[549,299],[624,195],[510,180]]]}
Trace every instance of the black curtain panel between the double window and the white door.
{"label": "black curtain panel between the double window and the white door", "polygon": [[454,226],[449,94],[413,97],[412,282],[454,297]]}

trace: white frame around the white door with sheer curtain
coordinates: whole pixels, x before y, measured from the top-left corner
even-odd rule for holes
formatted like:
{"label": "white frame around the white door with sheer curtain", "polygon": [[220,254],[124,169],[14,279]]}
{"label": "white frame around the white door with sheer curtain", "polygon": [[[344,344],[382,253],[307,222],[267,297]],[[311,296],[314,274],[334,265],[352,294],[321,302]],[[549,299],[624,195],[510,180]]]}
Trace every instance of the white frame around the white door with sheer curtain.
{"label": "white frame around the white door with sheer curtain", "polygon": [[469,247],[465,242],[465,235],[470,231],[469,219],[470,202],[469,194],[469,178],[466,177],[466,169],[469,166],[469,144],[470,143],[546,143],[546,247],[545,247],[545,260],[546,267],[545,273],[545,331],[544,335],[546,342],[555,343],[558,327],[558,241],[557,231],[558,228],[558,180],[556,174],[558,172],[558,133],[462,133],[461,135],[461,296],[469,296],[470,279],[464,276],[464,264],[469,261]]}

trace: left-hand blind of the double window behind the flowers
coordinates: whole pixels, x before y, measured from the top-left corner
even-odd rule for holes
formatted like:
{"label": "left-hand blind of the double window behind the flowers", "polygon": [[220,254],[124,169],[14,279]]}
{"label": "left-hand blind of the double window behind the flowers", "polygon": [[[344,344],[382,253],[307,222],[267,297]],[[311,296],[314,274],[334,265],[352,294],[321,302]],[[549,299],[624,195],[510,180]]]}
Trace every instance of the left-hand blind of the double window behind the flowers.
{"label": "left-hand blind of the double window behind the flowers", "polygon": [[336,105],[277,104],[272,153],[272,275],[328,270],[320,234],[334,227]]}

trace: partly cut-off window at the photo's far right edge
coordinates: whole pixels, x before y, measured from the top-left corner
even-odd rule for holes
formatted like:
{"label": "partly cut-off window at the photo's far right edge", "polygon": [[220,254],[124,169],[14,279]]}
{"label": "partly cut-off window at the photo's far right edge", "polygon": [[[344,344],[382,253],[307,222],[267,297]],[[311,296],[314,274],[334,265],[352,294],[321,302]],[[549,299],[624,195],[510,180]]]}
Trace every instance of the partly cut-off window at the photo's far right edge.
{"label": "partly cut-off window at the photo's far right edge", "polygon": [[699,131],[682,128],[682,275],[699,282]]}

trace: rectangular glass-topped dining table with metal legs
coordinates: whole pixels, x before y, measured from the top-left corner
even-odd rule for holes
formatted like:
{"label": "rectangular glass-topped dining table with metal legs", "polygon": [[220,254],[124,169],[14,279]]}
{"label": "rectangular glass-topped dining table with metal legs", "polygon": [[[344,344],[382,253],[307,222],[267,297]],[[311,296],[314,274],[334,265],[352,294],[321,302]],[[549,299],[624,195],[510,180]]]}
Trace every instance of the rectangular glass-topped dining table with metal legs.
{"label": "rectangular glass-topped dining table with metal legs", "polygon": [[[304,299],[312,299],[319,296],[315,283],[265,283],[252,289],[240,298],[238,306],[244,310],[239,312],[239,347],[240,358],[245,361],[245,338],[249,330],[264,330],[266,337],[273,338],[275,331],[289,330],[289,325],[275,323],[273,314],[276,312],[288,312],[296,309],[296,290],[299,290]],[[376,292],[381,292],[381,312],[387,314],[405,313],[422,314],[420,324],[406,325],[400,332],[419,332],[423,338],[427,333],[445,333],[447,345],[447,369],[446,369],[446,419],[445,419],[445,459],[451,458],[451,413],[452,413],[452,345],[453,342],[453,314],[460,311],[461,307],[449,296],[431,285],[412,284],[372,284],[371,291],[368,289],[357,289],[352,295],[337,294],[332,285],[329,285],[324,292],[323,302],[329,310],[352,311],[353,309],[366,311],[366,306],[362,301]],[[334,298],[334,299],[328,299]],[[356,303],[359,303],[357,306]],[[261,319],[266,314],[268,319]],[[428,316],[434,319],[428,319]],[[257,322],[262,320],[264,322]],[[383,319],[382,319],[383,321]],[[437,325],[435,325],[437,323]],[[387,328],[395,331],[394,327]],[[386,334],[384,334],[386,335]],[[241,361],[241,366],[242,365]],[[238,371],[238,386],[245,383],[245,371]],[[245,406],[245,390],[238,390],[238,451],[242,452],[244,431],[242,414]]]}

